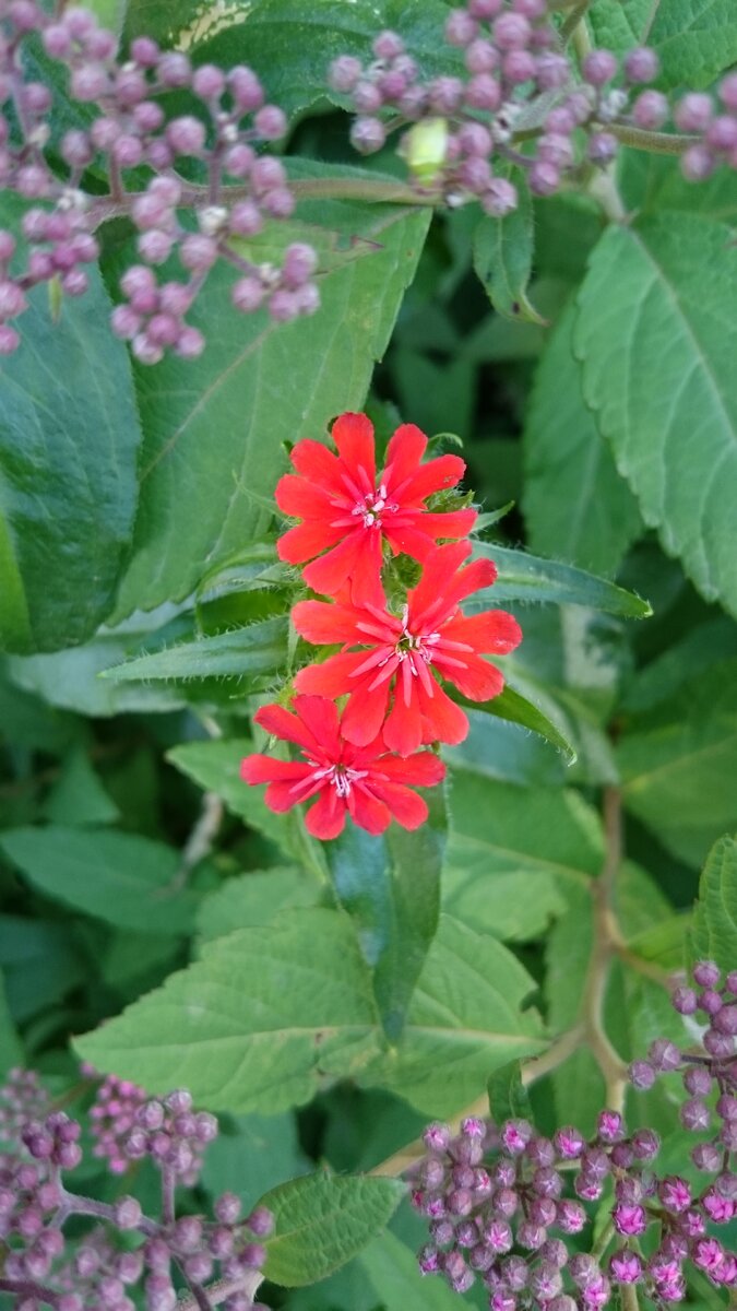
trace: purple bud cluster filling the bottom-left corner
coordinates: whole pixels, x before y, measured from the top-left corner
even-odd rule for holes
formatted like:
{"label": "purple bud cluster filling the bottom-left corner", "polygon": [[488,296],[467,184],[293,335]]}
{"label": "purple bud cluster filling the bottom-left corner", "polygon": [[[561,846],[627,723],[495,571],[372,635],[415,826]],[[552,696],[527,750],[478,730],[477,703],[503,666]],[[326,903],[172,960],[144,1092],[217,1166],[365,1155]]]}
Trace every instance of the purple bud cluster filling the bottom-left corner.
{"label": "purple bud cluster filling the bottom-left corner", "polygon": [[[223,1193],[212,1218],[177,1218],[174,1185],[195,1181],[202,1151],[218,1131],[212,1116],[193,1110],[188,1092],[159,1101],[108,1078],[90,1110],[94,1154],[113,1173],[144,1155],[160,1168],[160,1219],[144,1215],[131,1196],[108,1203],[67,1190],[64,1172],[81,1160],[81,1126],[63,1112],[45,1113],[35,1076],[12,1071],[0,1106],[12,1148],[0,1158],[0,1291],[16,1295],[18,1311],[174,1311],[182,1283],[193,1304],[210,1307],[211,1281],[226,1311],[266,1311],[254,1307],[253,1295],[266,1260],[262,1240],[274,1227],[270,1211],[258,1206],[241,1218],[240,1200]],[[96,1227],[73,1242],[64,1226],[80,1215]],[[135,1235],[138,1245],[122,1235]]]}

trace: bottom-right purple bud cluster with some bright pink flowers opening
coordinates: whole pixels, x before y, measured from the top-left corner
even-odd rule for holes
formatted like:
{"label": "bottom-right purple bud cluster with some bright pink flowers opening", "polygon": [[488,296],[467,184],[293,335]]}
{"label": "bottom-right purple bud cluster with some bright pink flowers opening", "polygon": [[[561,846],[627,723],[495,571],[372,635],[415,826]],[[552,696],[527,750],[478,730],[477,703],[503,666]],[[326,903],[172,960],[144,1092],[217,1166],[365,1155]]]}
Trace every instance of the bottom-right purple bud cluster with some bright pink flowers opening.
{"label": "bottom-right purple bud cluster with some bright pink flowers opening", "polygon": [[[412,1194],[430,1230],[424,1274],[442,1274],[458,1293],[480,1280],[490,1311],[594,1311],[616,1303],[626,1285],[666,1307],[686,1297],[687,1262],[715,1287],[737,1289],[737,1257],[720,1238],[737,1217],[737,973],[723,978],[704,961],[694,983],[673,1000],[682,1015],[706,1017],[700,1050],[660,1040],[631,1074],[637,1088],[681,1074],[682,1124],[709,1134],[691,1154],[709,1176],[704,1185],[658,1175],[658,1135],[627,1134],[614,1110],[599,1114],[589,1139],[574,1126],[546,1138],[526,1120],[467,1118],[456,1135],[430,1125]],[[605,1189],[614,1194],[614,1238],[608,1255],[594,1257],[577,1235]]]}

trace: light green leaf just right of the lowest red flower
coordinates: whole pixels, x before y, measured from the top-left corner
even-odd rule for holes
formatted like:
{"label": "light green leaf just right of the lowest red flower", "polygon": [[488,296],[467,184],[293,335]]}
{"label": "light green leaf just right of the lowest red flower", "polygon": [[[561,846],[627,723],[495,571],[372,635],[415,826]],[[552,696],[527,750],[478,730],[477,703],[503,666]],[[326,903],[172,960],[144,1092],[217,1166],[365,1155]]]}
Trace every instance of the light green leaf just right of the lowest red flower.
{"label": "light green leaf just right of the lowest red flower", "polygon": [[450,815],[443,910],[494,937],[544,933],[603,863],[598,815],[577,792],[452,770]]}

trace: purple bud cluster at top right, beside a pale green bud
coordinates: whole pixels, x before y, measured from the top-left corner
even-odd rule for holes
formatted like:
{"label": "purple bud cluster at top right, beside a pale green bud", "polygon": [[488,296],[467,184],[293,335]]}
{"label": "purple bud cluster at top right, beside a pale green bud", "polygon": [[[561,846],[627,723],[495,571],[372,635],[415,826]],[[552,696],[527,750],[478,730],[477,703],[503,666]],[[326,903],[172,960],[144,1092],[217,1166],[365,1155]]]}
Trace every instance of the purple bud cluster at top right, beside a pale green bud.
{"label": "purple bud cluster at top right, beside a pale green bud", "polygon": [[[424,80],[401,38],[383,31],[368,64],[341,55],[330,66],[329,81],[355,110],[354,147],[371,153],[389,132],[401,130],[399,153],[416,186],[451,206],[477,199],[487,214],[501,218],[518,203],[505,176],[509,164],[527,174],[535,195],[552,195],[582,166],[606,168],[612,161],[618,125],[652,130],[670,115],[665,96],[640,90],[660,72],[653,50],[639,47],[622,60],[608,50],[594,50],[577,69],[560,50],[547,0],[468,0],[448,13],[445,39],[463,51],[464,68],[455,76]],[[713,113],[707,115],[711,138],[686,153],[687,177],[707,176],[717,163],[734,164],[737,134],[728,121],[733,122],[729,106],[737,96],[729,79],[721,94],[727,113],[713,122]],[[702,100],[711,106],[708,96],[686,97],[682,105]],[[435,126],[430,159],[417,132],[422,122]],[[527,146],[517,148],[522,140]]]}

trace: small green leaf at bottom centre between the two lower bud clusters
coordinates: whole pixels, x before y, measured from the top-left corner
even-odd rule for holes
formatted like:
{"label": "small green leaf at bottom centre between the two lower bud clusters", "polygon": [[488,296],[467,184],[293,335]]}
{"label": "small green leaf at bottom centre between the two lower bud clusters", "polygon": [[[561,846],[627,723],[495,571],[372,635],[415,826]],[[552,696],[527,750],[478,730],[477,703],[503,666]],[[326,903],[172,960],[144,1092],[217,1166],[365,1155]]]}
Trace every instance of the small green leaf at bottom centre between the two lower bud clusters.
{"label": "small green leaf at bottom centre between the two lower bud clusters", "polygon": [[324,1280],[361,1252],[397,1209],[407,1185],[370,1175],[307,1175],[261,1198],[274,1215],[268,1280],[294,1289]]}

